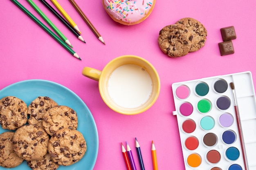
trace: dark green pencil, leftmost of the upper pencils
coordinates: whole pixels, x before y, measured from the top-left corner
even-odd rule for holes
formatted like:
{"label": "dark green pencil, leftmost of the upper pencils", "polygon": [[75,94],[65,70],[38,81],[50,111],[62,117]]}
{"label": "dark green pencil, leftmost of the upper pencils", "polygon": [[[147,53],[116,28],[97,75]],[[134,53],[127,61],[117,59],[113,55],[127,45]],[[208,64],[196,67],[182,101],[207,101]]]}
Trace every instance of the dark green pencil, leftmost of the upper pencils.
{"label": "dark green pencil, leftmost of the upper pencils", "polygon": [[22,6],[17,0],[11,0],[17,7],[19,7],[25,14],[29,16],[36,24],[38,24],[43,30],[45,30],[52,38],[54,38],[59,44],[61,44],[69,53],[71,53],[74,57],[81,60],[79,55],[74,52],[70,46],[68,46],[65,42],[63,42],[56,34],[54,34],[45,24],[43,24],[40,20],[38,20],[32,13],[30,13],[25,7]]}

